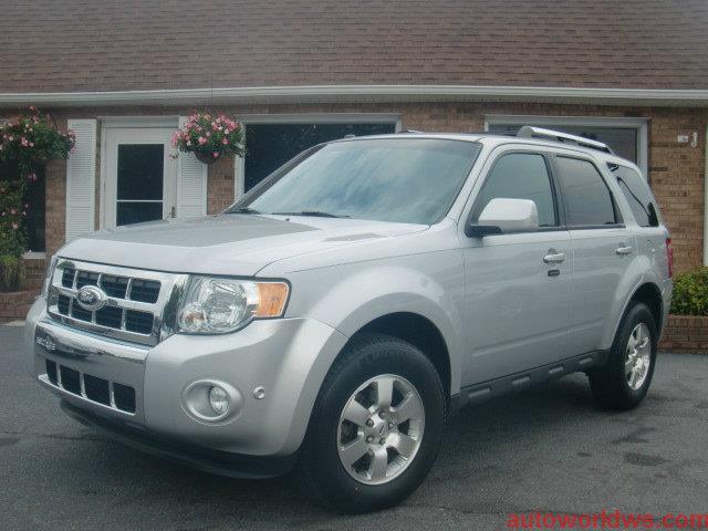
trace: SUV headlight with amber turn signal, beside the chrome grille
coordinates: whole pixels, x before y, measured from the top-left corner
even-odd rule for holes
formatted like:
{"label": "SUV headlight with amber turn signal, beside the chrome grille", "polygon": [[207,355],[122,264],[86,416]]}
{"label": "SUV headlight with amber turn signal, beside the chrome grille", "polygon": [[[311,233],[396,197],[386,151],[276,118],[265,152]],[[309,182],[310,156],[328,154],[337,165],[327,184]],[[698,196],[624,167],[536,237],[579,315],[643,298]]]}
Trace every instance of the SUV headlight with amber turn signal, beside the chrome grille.
{"label": "SUV headlight with amber turn signal, beside the chrome grille", "polygon": [[177,314],[179,332],[223,334],[253,319],[280,317],[285,311],[285,282],[190,277]]}

